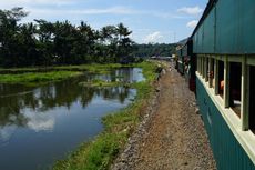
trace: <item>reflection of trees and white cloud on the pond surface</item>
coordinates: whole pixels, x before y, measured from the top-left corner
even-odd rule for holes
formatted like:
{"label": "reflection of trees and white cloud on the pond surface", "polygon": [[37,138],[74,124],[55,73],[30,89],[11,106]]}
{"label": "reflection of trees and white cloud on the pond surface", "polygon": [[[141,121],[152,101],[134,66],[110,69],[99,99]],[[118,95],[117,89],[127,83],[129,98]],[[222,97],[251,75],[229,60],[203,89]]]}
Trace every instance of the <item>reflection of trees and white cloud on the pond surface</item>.
{"label": "reflection of trees and white cloud on the pond surface", "polygon": [[123,87],[79,86],[79,82],[94,78],[125,82],[144,80],[141,69],[126,68],[104,76],[84,74],[39,88],[0,84],[0,141],[10,138],[18,127],[27,127],[34,131],[53,129],[55,118],[50,114],[50,110],[62,107],[69,110],[74,102],[79,102],[85,109],[96,97],[123,103],[129,97],[130,89]]}

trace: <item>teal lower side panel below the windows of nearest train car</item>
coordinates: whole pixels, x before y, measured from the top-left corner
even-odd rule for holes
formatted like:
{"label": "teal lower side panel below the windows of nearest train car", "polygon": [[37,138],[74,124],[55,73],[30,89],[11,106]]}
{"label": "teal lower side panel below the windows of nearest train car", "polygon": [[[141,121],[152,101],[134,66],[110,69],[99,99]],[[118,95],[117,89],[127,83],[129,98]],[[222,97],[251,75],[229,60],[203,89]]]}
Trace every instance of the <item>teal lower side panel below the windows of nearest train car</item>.
{"label": "teal lower side panel below the windows of nearest train car", "polygon": [[196,98],[200,112],[213,148],[217,169],[255,170],[252,160],[234,137],[198,78],[196,79],[196,91],[198,91]]}

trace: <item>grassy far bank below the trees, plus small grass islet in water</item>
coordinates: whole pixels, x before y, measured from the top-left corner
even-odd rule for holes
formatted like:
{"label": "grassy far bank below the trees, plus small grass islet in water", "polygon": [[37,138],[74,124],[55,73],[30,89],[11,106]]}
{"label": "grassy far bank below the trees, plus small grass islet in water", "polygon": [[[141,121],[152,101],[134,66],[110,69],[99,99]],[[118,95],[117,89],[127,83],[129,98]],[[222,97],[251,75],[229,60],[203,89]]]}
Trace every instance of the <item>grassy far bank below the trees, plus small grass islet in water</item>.
{"label": "grassy far bank below the trees, plus small grass islet in water", "polygon": [[[81,76],[83,72],[93,74],[106,74],[111,70],[120,68],[140,67],[143,63],[133,64],[82,64],[82,66],[61,66],[49,68],[14,68],[14,69],[0,69],[0,83],[21,83],[27,86],[38,86],[51,81],[60,81],[72,77]],[[85,83],[91,86],[90,83]],[[92,86],[118,86],[113,83],[103,83],[102,81],[94,82]]]}

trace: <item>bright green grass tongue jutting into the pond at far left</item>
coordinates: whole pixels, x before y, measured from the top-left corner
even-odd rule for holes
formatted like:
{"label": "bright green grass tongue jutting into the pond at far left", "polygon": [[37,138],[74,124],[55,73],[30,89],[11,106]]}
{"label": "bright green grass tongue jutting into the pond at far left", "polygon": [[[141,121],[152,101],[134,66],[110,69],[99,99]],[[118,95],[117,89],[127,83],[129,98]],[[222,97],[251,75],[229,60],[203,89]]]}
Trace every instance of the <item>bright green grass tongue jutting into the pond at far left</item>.
{"label": "bright green grass tongue jutting into the pond at far left", "polygon": [[29,72],[20,74],[1,74],[1,83],[21,83],[21,84],[37,84],[42,82],[59,81],[71,77],[82,74],[78,71],[52,71],[52,72]]}

